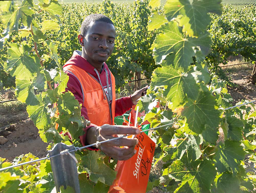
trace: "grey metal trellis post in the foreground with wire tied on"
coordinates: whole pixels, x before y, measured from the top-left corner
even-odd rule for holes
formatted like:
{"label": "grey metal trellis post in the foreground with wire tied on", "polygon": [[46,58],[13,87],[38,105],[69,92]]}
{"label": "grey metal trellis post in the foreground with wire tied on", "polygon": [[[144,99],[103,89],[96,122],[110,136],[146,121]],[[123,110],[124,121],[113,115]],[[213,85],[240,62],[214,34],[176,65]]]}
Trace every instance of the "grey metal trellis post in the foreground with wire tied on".
{"label": "grey metal trellis post in the foreground with wire tied on", "polygon": [[[70,186],[76,193],[80,193],[77,159],[75,152],[71,150],[76,150],[74,145],[57,143],[52,150],[48,151],[57,192],[60,192],[60,186],[64,186],[65,189]],[[59,156],[54,156],[56,154]]]}

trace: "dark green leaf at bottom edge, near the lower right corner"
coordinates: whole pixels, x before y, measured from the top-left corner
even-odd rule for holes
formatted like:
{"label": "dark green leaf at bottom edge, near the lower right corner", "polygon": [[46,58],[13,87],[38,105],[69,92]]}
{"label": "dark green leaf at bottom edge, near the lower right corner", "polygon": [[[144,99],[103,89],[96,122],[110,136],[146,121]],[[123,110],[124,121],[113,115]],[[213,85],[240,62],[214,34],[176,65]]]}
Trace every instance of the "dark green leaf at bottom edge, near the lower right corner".
{"label": "dark green leaf at bottom edge, near the lower right corner", "polygon": [[240,191],[240,180],[232,174],[222,174],[217,182],[217,188],[222,193],[233,193]]}

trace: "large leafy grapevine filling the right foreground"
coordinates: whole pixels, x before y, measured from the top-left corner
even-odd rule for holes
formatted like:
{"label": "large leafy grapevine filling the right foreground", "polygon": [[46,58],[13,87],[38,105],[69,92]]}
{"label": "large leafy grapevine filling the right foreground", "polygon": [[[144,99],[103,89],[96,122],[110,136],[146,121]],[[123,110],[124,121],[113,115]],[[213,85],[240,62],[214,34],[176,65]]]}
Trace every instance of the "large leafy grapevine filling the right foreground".
{"label": "large leafy grapevine filling the right foreground", "polygon": [[253,191],[254,179],[246,174],[244,160],[251,153],[250,160],[255,162],[255,123],[250,115],[254,106],[223,111],[232,101],[226,82],[212,78],[211,85],[206,85],[209,13],[221,15],[221,1],[170,0],[163,13],[155,11],[160,1],[151,3],[148,26],[161,31],[152,44],[155,62],[161,67],[153,71],[150,91],[138,106],[147,113],[141,121],[148,120],[151,127],[172,119],[177,123],[153,133],[158,145],[155,161],[164,162],[163,185],[174,192]]}

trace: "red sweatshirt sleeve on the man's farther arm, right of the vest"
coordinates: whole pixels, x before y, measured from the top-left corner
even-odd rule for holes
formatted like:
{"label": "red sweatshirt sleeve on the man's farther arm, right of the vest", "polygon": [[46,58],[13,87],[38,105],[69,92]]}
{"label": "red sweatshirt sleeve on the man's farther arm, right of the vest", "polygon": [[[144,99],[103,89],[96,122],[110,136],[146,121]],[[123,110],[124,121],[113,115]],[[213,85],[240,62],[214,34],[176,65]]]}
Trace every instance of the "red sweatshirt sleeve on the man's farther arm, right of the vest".
{"label": "red sweatshirt sleeve on the man's farther arm, right of the vest", "polygon": [[130,110],[134,104],[130,96],[124,96],[115,100],[115,116],[123,115],[126,111]]}

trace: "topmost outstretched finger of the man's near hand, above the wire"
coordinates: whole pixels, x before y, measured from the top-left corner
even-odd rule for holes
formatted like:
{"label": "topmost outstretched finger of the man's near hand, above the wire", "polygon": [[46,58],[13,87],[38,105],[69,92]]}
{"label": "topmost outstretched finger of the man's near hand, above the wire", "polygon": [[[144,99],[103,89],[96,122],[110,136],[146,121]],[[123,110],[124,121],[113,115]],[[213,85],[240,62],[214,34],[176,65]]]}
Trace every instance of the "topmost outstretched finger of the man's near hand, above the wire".
{"label": "topmost outstretched finger of the man's near hand, above the wire", "polygon": [[101,135],[116,135],[116,134],[133,134],[137,135],[140,133],[140,129],[137,127],[126,126],[126,125],[102,125],[99,129]]}

